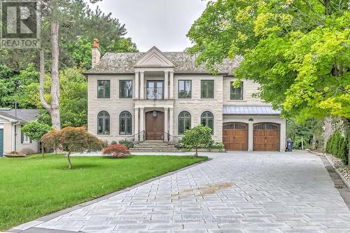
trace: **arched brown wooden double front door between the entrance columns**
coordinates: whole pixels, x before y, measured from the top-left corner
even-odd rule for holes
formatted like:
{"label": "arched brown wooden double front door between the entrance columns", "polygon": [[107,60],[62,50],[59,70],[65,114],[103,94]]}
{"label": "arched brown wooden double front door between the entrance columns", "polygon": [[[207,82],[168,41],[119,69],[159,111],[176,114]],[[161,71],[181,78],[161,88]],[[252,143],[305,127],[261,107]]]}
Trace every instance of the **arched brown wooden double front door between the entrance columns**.
{"label": "arched brown wooden double front door between the entrance columns", "polygon": [[146,140],[162,140],[164,135],[164,113],[146,113]]}

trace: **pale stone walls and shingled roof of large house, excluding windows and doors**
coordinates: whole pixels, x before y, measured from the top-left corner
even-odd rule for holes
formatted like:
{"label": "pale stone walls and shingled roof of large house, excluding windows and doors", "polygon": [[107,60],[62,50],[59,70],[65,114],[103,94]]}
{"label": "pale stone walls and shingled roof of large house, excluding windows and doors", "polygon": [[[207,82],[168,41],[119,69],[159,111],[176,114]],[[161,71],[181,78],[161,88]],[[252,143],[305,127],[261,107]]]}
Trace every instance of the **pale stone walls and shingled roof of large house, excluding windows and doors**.
{"label": "pale stone walls and shingled roof of large house, excluding windows and doors", "polygon": [[[97,48],[93,48],[95,51]],[[95,58],[96,56],[94,56]],[[172,58],[172,59],[171,59]],[[132,60],[132,61],[131,61]],[[239,65],[240,57],[233,61],[225,60],[219,67],[217,75],[204,71],[202,66],[194,65],[195,58],[185,52],[161,52],[152,48],[145,53],[107,53],[94,67],[85,73],[88,80],[88,131],[106,141],[122,139],[144,140],[146,129],[146,113],[160,111],[165,115],[164,140],[180,137],[179,114],[182,111],[190,113],[190,125],[194,127],[201,122],[201,115],[210,111],[214,115],[214,141],[223,140],[223,123],[249,123],[248,150],[253,150],[253,123],[274,122],[280,127],[280,150],[286,143],[286,122],[279,115],[252,113],[252,115],[224,114],[223,106],[266,106],[260,99],[252,96],[258,91],[258,84],[248,80],[243,81],[243,97],[231,100],[230,83],[235,80],[232,71]],[[131,65],[133,64],[133,65]],[[124,67],[124,69],[122,69]],[[132,72],[131,72],[132,71]],[[99,80],[109,80],[109,98],[98,98]],[[132,80],[132,98],[120,97],[120,80]],[[162,98],[148,98],[148,81],[162,81]],[[179,98],[179,80],[191,80],[190,99]],[[202,80],[214,80],[214,98],[201,97]],[[109,134],[98,134],[97,115],[106,111],[110,117]],[[127,111],[132,115],[132,132],[120,135],[120,113]],[[248,122],[253,118],[253,122]],[[167,137],[166,135],[171,135]]]}

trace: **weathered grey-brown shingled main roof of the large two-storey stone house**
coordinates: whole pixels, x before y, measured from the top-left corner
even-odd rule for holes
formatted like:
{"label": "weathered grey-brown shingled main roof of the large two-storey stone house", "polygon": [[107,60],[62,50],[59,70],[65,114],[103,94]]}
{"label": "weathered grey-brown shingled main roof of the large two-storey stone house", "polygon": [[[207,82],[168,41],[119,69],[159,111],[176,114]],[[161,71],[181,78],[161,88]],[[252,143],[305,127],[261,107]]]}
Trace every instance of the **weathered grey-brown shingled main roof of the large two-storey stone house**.
{"label": "weathered grey-brown shingled main roof of the large two-storey stone house", "polygon": [[[134,64],[144,56],[146,52],[107,52],[93,69],[86,73],[134,73]],[[192,57],[188,52],[162,52],[169,60],[176,64],[175,73],[208,73],[205,65],[196,66],[197,55]],[[224,59],[219,65],[219,73],[231,74],[243,60],[237,56],[235,59]]]}

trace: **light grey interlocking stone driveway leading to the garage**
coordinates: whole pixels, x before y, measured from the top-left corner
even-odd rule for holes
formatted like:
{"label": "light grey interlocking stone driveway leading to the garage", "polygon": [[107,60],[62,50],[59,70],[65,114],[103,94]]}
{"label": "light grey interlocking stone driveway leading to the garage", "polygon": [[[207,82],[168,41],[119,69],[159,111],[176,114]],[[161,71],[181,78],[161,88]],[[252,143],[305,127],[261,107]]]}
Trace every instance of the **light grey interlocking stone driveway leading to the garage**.
{"label": "light grey interlocking stone driveway leading to the garage", "polygon": [[350,211],[320,157],[302,152],[210,157],[36,227],[114,233],[350,232]]}

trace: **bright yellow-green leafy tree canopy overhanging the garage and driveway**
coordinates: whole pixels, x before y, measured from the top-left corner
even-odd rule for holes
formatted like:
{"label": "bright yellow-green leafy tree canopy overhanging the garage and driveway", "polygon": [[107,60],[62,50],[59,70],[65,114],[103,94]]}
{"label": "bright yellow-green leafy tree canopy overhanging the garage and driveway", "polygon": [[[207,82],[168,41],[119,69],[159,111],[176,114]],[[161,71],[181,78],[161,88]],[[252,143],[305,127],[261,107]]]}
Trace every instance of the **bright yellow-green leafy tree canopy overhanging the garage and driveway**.
{"label": "bright yellow-green leafy tree canopy overhanging the garage and driveway", "polygon": [[188,37],[211,71],[242,55],[235,75],[298,122],[350,118],[350,12],[344,1],[209,1]]}

